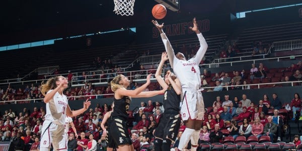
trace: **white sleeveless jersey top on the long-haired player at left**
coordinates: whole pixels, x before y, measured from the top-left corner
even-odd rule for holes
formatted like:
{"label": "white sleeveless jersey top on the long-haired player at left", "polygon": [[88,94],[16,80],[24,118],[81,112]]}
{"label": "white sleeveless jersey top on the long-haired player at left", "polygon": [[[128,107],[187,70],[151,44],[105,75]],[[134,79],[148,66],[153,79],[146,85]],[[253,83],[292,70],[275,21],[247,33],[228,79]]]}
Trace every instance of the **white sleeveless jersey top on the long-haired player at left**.
{"label": "white sleeveless jersey top on the long-haired player at left", "polygon": [[[53,90],[49,90],[47,93],[50,93],[51,91]],[[45,120],[49,120],[57,125],[64,125],[67,104],[67,97],[56,92],[53,99],[46,103]]]}

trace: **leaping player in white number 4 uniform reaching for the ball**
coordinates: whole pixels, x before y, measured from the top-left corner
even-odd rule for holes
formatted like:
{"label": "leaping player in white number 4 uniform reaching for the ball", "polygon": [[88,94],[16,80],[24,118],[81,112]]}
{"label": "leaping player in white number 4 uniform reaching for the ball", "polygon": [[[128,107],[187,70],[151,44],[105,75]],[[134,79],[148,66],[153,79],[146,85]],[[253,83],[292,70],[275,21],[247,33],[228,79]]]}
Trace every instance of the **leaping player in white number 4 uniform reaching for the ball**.
{"label": "leaping player in white number 4 uniform reaching for the ball", "polygon": [[200,48],[194,57],[186,60],[183,53],[178,52],[175,55],[174,50],[163,31],[164,23],[161,25],[157,21],[152,21],[152,23],[161,33],[171,67],[182,85],[181,115],[182,120],[185,121],[186,129],[182,134],[178,149],[183,150],[191,139],[191,149],[196,150],[204,115],[203,97],[199,91],[201,81],[198,65],[204,57],[208,45],[202,34],[199,32],[196,19],[194,18],[194,26],[190,27],[190,29],[197,34]]}

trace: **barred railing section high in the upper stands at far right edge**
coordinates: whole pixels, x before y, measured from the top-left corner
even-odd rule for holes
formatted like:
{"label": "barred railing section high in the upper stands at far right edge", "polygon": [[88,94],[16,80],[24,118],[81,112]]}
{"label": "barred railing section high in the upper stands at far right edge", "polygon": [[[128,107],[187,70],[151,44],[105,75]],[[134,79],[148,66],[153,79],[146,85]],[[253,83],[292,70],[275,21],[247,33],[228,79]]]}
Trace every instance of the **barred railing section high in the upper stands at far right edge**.
{"label": "barred railing section high in the upper stands at far right edge", "polygon": [[272,44],[274,51],[302,49],[302,39],[277,41]]}

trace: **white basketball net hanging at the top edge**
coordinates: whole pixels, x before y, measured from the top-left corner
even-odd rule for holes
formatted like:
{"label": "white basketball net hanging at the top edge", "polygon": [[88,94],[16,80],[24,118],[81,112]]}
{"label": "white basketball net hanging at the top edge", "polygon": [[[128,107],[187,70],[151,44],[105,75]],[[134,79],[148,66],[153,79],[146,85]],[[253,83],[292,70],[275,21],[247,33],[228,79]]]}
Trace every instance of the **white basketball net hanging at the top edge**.
{"label": "white basketball net hanging at the top edge", "polygon": [[133,15],[134,2],[135,0],[114,0],[113,12],[121,16]]}

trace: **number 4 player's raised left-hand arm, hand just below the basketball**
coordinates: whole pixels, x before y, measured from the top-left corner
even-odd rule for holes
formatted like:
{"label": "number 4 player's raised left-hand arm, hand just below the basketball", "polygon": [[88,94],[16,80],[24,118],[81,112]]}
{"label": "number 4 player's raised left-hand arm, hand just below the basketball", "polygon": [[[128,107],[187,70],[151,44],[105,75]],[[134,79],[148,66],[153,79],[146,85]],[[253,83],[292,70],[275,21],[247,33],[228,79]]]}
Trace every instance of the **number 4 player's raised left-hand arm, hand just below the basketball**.
{"label": "number 4 player's raised left-hand arm, hand just below the basketball", "polygon": [[176,60],[174,60],[174,59],[176,59],[176,57],[175,57],[174,50],[171,46],[171,43],[170,43],[168,37],[166,36],[166,34],[163,31],[164,23],[162,25],[160,25],[157,21],[154,21],[154,20],[152,20],[152,23],[154,24],[154,26],[156,28],[158,28],[158,30],[161,33],[161,37],[162,37],[163,43],[165,45],[165,49],[168,53],[168,58],[169,58],[169,61],[170,61],[170,65],[173,68],[173,62],[176,61]]}

